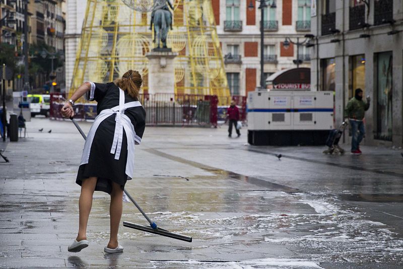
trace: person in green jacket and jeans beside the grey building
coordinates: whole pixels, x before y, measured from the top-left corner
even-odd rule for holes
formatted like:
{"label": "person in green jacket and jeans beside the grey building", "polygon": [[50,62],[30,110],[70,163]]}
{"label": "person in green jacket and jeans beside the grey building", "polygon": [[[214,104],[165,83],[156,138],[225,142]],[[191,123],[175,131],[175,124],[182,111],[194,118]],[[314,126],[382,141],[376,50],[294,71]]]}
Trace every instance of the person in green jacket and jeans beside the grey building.
{"label": "person in green jacket and jeans beside the grey building", "polygon": [[369,109],[370,98],[367,97],[367,102],[362,100],[363,91],[358,88],[355,91],[355,96],[347,103],[346,113],[351,125],[351,153],[360,155],[360,143],[365,135],[364,116],[365,111]]}

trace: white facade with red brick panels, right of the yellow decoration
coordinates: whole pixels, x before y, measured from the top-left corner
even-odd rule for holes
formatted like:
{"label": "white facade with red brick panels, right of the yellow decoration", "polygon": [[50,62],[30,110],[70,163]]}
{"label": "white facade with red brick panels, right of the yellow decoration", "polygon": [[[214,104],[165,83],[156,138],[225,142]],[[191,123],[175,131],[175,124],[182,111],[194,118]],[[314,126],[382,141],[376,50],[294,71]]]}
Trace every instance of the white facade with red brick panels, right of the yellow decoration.
{"label": "white facade with red brick panels, right of the yellow decoration", "polygon": [[212,0],[212,4],[232,95],[247,95],[260,85],[260,53],[264,55],[265,77],[296,67],[293,60],[297,54],[302,60],[301,67],[310,66],[309,48],[292,43],[289,47],[283,45],[286,37],[302,42],[305,34],[310,33],[309,0],[266,0],[263,51],[260,51],[260,2]]}

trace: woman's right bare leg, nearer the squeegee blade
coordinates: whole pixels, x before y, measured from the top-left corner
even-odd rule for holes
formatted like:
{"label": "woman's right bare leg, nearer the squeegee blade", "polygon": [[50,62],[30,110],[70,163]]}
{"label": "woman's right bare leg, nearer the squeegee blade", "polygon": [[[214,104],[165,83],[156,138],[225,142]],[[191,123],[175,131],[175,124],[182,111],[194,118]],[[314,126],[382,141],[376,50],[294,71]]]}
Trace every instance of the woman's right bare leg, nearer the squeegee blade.
{"label": "woman's right bare leg, nearer the squeegee blade", "polygon": [[122,197],[123,190],[120,185],[112,182],[112,192],[110,194],[110,239],[108,243],[108,248],[116,248],[118,246],[117,242],[117,232],[119,231],[120,218],[122,217]]}

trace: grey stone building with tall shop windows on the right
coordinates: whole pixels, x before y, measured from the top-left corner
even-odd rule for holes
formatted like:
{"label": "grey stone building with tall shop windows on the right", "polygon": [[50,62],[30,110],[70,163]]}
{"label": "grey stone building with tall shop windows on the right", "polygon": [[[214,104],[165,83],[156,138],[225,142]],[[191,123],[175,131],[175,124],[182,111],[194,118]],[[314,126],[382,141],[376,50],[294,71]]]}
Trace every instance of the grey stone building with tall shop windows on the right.
{"label": "grey stone building with tall shop windows on the right", "polygon": [[354,90],[361,88],[372,100],[365,142],[401,146],[403,0],[311,2],[312,89],[335,91],[338,125]]}

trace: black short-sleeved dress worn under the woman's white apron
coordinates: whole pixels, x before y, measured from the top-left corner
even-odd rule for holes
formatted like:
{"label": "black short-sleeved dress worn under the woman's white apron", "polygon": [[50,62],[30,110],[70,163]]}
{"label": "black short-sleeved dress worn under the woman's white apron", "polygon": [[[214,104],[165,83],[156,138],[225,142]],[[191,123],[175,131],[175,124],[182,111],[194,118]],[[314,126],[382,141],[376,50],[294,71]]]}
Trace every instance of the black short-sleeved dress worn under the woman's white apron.
{"label": "black short-sleeved dress worn under the woman's white apron", "polygon": [[[119,105],[119,88],[113,82],[107,84],[94,84],[94,99],[98,102],[98,115],[104,109],[110,109]],[[133,101],[139,100],[131,97],[127,92],[124,92],[124,102],[128,103]],[[124,111],[124,114],[129,117],[131,124],[135,128],[136,135],[142,138],[146,126],[146,111],[143,106],[128,108]],[[115,160],[115,155],[110,153],[115,132],[115,117],[116,115],[108,116],[98,126],[91,145],[88,163],[82,164],[79,167],[76,183],[80,186],[83,179],[98,177],[95,190],[104,191],[110,194],[112,191],[111,181],[116,182],[120,185],[121,189],[124,189],[124,185],[127,181],[127,175],[125,173],[127,161],[127,139],[124,130],[119,160]]]}

